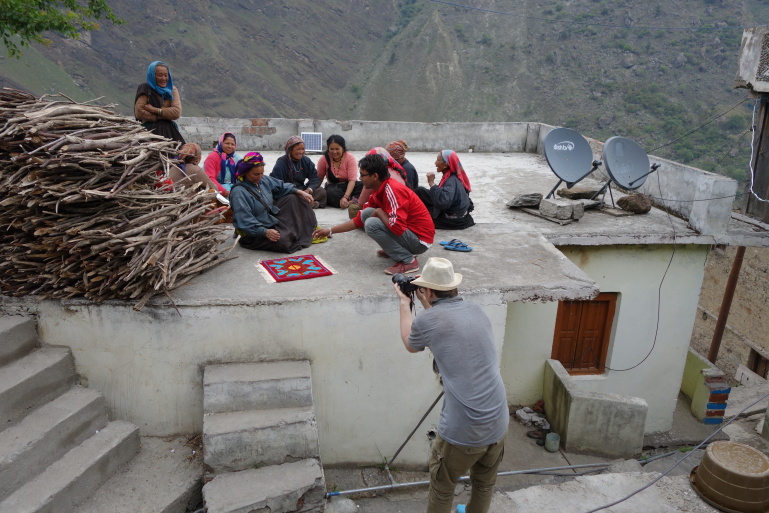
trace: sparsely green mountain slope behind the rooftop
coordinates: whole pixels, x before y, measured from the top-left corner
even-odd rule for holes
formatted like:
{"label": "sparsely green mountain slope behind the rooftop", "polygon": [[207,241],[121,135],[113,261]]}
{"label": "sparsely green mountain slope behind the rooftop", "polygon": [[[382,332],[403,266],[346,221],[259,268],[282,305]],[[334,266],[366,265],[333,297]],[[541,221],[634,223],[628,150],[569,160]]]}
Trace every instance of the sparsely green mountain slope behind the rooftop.
{"label": "sparsely green mountain slope behind the rooftop", "polygon": [[0,82],[130,114],[161,59],[188,116],[541,121],[736,178],[752,108],[733,89],[741,27],[769,20],[761,0],[112,5],[126,25],[3,58]]}

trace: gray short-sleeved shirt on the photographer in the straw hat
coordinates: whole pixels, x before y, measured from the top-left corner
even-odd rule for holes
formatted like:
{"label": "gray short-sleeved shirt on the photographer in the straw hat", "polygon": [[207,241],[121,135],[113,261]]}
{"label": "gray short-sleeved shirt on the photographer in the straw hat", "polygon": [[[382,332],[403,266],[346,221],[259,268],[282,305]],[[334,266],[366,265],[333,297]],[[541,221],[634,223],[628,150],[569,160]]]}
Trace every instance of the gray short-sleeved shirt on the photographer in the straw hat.
{"label": "gray short-sleeved shirt on the photographer in the straw hat", "polygon": [[499,441],[510,412],[491,321],[481,307],[459,297],[435,301],[414,319],[409,345],[429,347],[443,378],[441,438],[471,447]]}

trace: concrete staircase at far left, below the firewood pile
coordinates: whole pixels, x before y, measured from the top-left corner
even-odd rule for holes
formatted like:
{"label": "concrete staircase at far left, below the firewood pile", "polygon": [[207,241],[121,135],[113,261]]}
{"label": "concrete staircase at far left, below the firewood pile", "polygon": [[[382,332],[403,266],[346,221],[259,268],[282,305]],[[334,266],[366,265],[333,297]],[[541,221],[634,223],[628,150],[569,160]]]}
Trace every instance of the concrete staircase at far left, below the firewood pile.
{"label": "concrete staircase at far left, below the firewood pile", "polygon": [[134,458],[140,445],[169,443],[110,422],[104,397],[76,384],[68,348],[38,347],[33,320],[0,317],[0,513],[183,513],[200,465],[183,461],[181,482],[166,484],[167,458]]}

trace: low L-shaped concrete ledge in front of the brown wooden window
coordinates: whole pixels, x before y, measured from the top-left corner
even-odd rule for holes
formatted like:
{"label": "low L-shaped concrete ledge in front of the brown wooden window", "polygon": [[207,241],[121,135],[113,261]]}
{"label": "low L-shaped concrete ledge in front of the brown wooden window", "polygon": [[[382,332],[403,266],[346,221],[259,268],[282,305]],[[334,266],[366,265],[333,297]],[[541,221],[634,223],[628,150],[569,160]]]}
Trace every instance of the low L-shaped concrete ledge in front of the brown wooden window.
{"label": "low L-shaped concrete ledge in front of the brown wooden window", "polygon": [[643,448],[646,401],[584,392],[557,360],[545,365],[544,400],[553,432],[569,452],[631,458]]}

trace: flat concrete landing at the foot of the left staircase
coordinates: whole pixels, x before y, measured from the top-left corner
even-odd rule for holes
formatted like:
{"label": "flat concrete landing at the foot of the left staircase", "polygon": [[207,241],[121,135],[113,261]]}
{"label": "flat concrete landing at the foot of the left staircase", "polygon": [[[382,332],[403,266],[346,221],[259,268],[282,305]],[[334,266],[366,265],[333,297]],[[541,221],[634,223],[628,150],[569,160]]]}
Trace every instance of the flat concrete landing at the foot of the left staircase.
{"label": "flat concrete landing at the foot of the left staircase", "polygon": [[[203,455],[186,438],[141,438],[141,451],[76,513],[184,513],[202,501]],[[193,454],[193,451],[194,454]]]}

